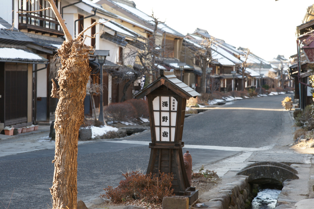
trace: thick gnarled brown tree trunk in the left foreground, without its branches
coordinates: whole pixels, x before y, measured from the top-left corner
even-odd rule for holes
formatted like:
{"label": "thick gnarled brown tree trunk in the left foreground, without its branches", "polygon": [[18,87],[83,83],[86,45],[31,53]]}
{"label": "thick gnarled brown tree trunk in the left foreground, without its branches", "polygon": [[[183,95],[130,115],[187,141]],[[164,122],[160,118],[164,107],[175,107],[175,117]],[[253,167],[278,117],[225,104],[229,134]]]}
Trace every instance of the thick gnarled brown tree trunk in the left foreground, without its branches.
{"label": "thick gnarled brown tree trunk in the left foreground, without its branches", "polygon": [[90,67],[88,50],[80,40],[63,42],[58,50],[62,67],[58,71],[57,90],[51,96],[59,98],[55,112],[55,170],[51,195],[53,209],[77,206],[77,145],[78,132],[84,120],[84,98]]}

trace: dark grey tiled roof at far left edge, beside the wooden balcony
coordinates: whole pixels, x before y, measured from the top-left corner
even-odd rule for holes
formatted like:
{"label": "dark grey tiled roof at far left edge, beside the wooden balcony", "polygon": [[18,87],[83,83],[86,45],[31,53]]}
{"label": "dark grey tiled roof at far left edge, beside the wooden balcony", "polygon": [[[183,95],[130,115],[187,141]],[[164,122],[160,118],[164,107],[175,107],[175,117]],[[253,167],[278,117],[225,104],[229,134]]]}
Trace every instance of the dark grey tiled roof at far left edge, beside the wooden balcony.
{"label": "dark grey tiled roof at far left edge, beside the wooden balcony", "polygon": [[11,45],[25,45],[27,43],[33,42],[31,38],[26,36],[21,31],[16,28],[12,29],[7,21],[0,17],[0,43],[2,44],[11,44]]}

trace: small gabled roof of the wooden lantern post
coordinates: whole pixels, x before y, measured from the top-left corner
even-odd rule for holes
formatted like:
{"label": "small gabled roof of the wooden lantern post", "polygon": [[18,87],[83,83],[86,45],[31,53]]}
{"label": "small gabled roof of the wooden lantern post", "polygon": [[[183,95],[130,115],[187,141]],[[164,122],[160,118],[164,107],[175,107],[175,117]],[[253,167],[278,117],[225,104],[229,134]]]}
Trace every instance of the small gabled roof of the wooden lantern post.
{"label": "small gabled roof of the wooden lantern post", "polygon": [[198,95],[200,95],[193,88],[189,87],[187,84],[179,80],[174,75],[173,69],[171,69],[170,71],[165,71],[164,69],[161,69],[160,76],[156,80],[154,80],[152,83],[150,83],[148,86],[146,86],[133,96],[136,99],[143,98],[144,96],[150,94],[152,91],[154,91],[161,85],[165,85],[174,93],[178,94],[179,96],[185,99],[190,99],[191,97],[196,98]]}

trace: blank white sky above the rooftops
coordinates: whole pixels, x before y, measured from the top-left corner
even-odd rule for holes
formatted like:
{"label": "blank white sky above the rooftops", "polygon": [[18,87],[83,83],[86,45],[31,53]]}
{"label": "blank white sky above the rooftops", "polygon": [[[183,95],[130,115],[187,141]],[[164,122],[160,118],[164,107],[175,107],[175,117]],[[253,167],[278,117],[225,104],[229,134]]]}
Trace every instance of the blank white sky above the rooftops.
{"label": "blank white sky above the rooftops", "polygon": [[295,29],[314,0],[133,0],[183,35],[196,28],[270,61],[296,54]]}

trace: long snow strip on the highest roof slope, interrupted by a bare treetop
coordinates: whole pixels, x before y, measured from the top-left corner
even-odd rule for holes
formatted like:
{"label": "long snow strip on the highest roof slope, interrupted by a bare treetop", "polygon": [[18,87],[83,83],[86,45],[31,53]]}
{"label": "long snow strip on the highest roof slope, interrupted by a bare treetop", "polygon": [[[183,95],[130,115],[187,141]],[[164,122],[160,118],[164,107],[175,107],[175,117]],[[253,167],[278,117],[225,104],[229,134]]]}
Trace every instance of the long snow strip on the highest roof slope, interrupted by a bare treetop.
{"label": "long snow strip on the highest roof slope, interrupted by a bare treetop", "polygon": [[[150,24],[154,24],[154,19],[152,17],[150,17],[146,13],[143,13],[142,11],[138,10],[137,8],[130,7],[130,6],[126,5],[126,4],[115,2],[115,1],[111,1],[111,3],[114,3],[114,4],[118,5],[119,7],[121,7],[122,9],[124,9],[124,10],[126,10],[126,11],[128,11],[130,13],[133,13],[138,18],[140,18],[140,19],[142,19],[142,20],[144,20],[146,22],[149,22]],[[178,35],[178,36],[184,37],[184,35],[182,35],[178,31],[170,28],[168,25],[166,25],[164,23],[158,24],[158,28],[160,30],[165,31],[166,33],[170,33],[170,34],[173,34],[173,35]]]}

